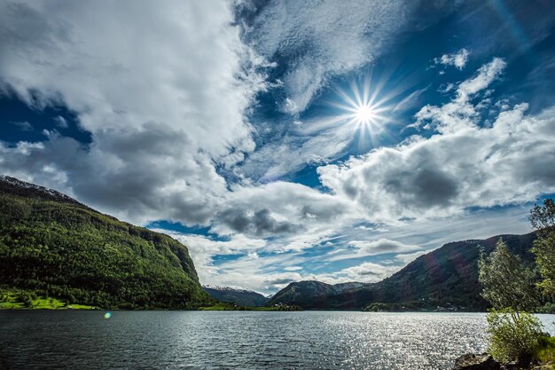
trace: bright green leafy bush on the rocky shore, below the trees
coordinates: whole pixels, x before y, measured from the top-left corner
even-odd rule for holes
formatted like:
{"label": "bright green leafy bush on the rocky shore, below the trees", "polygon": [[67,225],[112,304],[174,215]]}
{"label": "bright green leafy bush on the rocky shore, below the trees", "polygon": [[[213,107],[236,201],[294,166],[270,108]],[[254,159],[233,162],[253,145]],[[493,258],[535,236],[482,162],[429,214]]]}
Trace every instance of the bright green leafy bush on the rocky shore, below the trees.
{"label": "bright green leafy bush on the rocky shore, below the trees", "polygon": [[511,309],[488,314],[489,350],[498,361],[532,359],[542,338],[542,324],[535,316]]}

